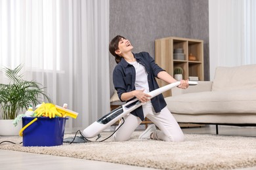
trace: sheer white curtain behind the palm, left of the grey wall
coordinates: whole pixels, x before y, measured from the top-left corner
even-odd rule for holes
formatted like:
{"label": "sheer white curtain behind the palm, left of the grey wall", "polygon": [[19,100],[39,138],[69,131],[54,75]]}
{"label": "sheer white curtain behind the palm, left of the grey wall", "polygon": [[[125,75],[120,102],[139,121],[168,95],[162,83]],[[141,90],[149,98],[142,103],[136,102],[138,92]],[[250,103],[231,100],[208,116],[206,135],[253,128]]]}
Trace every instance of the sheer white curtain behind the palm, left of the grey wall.
{"label": "sheer white curtain behind the palm, left of the grey wall", "polygon": [[79,112],[66,131],[109,110],[109,0],[1,0],[0,66],[24,64],[56,105]]}

